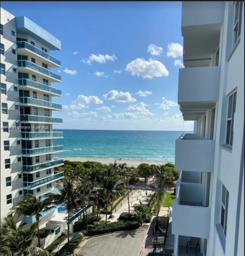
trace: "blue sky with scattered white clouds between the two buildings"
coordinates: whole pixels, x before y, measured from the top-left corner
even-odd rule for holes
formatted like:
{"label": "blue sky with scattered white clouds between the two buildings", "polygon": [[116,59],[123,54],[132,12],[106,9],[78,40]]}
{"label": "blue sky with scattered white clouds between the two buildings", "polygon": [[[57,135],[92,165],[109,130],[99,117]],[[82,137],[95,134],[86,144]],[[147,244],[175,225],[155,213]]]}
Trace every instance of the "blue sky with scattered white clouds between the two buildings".
{"label": "blue sky with scattered white clouds between the two buildings", "polygon": [[193,130],[183,121],[181,2],[1,2],[61,40],[57,129]]}

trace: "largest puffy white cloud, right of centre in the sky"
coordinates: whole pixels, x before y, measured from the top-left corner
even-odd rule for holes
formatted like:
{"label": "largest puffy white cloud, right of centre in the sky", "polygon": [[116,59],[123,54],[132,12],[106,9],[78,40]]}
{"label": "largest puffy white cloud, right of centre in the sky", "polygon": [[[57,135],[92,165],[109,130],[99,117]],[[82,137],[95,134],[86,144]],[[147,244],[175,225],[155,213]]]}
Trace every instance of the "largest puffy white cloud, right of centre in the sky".
{"label": "largest puffy white cloud, right of centre in the sky", "polygon": [[126,66],[125,70],[132,76],[142,76],[143,79],[152,79],[153,77],[168,76],[169,71],[164,64],[158,60],[137,58]]}

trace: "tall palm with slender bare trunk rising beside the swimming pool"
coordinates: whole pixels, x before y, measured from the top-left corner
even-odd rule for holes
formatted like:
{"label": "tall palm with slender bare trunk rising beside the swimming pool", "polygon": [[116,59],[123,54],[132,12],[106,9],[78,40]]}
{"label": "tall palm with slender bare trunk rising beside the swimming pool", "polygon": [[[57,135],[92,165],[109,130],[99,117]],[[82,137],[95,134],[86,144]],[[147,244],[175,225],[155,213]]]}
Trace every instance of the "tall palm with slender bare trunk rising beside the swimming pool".
{"label": "tall palm with slender bare trunk rising beside the swimming pool", "polygon": [[55,184],[58,189],[58,194],[47,193],[45,197],[50,203],[60,206],[65,205],[68,212],[68,229],[67,229],[67,245],[70,244],[70,215],[73,209],[78,208],[77,204],[77,190],[74,186],[74,181],[69,177],[64,177],[61,182]]}

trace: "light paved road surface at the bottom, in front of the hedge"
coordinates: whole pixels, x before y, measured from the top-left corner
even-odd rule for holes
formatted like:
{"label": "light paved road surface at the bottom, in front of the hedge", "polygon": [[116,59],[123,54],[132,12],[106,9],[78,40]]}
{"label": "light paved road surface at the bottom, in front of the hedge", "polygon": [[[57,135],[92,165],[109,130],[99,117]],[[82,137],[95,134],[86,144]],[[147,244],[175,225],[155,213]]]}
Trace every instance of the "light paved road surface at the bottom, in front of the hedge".
{"label": "light paved road surface at the bottom, in front of the hedge", "polygon": [[137,256],[145,233],[131,231],[91,238],[77,253],[82,256]]}

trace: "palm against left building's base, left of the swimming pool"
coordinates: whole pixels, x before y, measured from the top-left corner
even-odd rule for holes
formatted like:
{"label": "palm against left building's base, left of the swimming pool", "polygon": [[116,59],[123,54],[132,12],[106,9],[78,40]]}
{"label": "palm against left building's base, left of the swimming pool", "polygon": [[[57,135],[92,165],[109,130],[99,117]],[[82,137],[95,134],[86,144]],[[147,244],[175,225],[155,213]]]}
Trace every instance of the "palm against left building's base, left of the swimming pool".
{"label": "palm against left building's base, left of the swimming pool", "polygon": [[[13,210],[18,215],[27,215],[34,216],[37,223],[42,217],[42,213],[49,211],[52,208],[56,208],[54,205],[50,204],[50,201],[43,199],[43,197],[35,197],[33,194],[27,194],[24,196],[23,200],[17,203]],[[38,237],[38,246],[40,247],[40,233],[39,225],[37,225],[37,237]]]}

